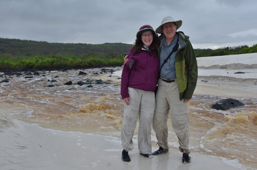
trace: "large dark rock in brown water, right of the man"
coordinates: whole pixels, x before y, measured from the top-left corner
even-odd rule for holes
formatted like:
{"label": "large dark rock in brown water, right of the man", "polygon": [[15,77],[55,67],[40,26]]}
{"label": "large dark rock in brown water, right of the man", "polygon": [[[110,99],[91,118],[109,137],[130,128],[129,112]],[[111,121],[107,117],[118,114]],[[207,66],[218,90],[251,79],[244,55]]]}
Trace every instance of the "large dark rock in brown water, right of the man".
{"label": "large dark rock in brown water, right of the man", "polygon": [[234,108],[238,106],[244,106],[244,103],[238,100],[229,98],[229,99],[223,99],[216,102],[215,104],[212,105],[212,108],[216,110],[228,110],[230,108]]}

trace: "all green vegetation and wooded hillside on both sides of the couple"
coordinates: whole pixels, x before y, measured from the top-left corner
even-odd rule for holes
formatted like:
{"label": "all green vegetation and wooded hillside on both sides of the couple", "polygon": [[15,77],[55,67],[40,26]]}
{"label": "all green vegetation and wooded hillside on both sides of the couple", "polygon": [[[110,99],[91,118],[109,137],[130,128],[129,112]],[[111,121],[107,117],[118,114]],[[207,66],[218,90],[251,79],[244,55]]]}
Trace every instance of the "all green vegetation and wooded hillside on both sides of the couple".
{"label": "all green vegetation and wooded hillside on both sides of the couple", "polygon": [[[0,38],[0,70],[76,69],[122,66],[132,44],[48,43]],[[257,44],[212,49],[194,49],[196,57],[257,53]]]}

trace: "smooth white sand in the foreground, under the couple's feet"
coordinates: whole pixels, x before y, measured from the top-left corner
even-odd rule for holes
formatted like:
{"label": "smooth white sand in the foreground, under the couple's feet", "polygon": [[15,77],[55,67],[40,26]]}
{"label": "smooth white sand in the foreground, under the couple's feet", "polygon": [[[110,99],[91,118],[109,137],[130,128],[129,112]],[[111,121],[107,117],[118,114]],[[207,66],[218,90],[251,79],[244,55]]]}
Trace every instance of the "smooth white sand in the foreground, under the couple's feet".
{"label": "smooth white sand in the foreground, under the couple's feet", "polygon": [[131,162],[123,162],[120,139],[14,122],[16,128],[0,132],[0,169],[237,169],[217,157],[196,154],[183,164],[182,153],[171,151],[146,159],[137,146],[129,153]]}

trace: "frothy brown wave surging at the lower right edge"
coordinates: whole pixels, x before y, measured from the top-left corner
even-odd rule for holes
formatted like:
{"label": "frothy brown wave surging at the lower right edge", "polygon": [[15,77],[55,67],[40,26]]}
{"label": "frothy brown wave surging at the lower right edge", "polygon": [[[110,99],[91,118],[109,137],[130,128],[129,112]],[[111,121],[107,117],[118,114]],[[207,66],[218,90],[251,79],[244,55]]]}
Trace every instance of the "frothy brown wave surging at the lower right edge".
{"label": "frothy brown wave surging at the lower right edge", "polygon": [[256,165],[257,113],[240,112],[224,118],[225,123],[215,125],[201,137],[200,147],[216,156]]}

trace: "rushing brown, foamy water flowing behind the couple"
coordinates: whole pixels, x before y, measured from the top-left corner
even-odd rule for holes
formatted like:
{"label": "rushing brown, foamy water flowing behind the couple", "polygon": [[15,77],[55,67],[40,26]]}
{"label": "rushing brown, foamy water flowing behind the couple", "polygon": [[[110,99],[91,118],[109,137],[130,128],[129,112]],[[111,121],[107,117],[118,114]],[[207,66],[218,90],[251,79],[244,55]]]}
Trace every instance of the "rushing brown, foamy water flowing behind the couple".
{"label": "rushing brown, foamy water flowing behind the couple", "polygon": [[[111,69],[111,68],[107,68]],[[120,67],[112,68],[120,70]],[[123,117],[123,100],[120,96],[120,79],[111,72],[94,75],[78,75],[80,70],[40,72],[33,78],[9,78],[9,83],[0,83],[1,109],[10,112],[17,119],[40,127],[61,131],[79,131],[120,137]],[[82,70],[81,70],[82,71]],[[42,75],[45,75],[44,77]],[[59,76],[58,78],[53,78]],[[77,85],[78,81],[92,81],[88,85]],[[50,83],[49,80],[58,82]],[[96,84],[102,79],[111,84]],[[72,81],[72,85],[63,85]],[[47,87],[53,84],[54,87]],[[257,165],[257,99],[234,98],[245,104],[227,111],[211,109],[219,96],[194,95],[189,101],[190,148],[192,153],[215,155],[240,163],[244,168],[256,169]],[[168,119],[169,148],[178,151],[178,139]],[[138,125],[134,143],[137,143]],[[156,144],[152,130],[152,145]]]}

